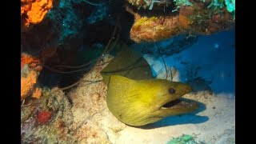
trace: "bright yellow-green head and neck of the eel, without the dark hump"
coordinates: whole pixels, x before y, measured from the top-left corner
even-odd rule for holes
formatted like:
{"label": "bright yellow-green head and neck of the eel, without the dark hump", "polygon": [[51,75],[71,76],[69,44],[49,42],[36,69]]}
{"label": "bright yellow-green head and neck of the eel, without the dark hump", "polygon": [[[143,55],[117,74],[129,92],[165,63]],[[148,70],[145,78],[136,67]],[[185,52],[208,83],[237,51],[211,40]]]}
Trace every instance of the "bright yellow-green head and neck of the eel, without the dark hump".
{"label": "bright yellow-green head and neck of the eel, without the dark hump", "polygon": [[[173,88],[175,94],[170,94]],[[106,96],[107,106],[121,122],[130,126],[143,126],[157,122],[175,114],[184,114],[198,108],[198,105],[162,108],[191,91],[191,87],[181,82],[162,79],[132,80],[119,75],[111,75]]]}

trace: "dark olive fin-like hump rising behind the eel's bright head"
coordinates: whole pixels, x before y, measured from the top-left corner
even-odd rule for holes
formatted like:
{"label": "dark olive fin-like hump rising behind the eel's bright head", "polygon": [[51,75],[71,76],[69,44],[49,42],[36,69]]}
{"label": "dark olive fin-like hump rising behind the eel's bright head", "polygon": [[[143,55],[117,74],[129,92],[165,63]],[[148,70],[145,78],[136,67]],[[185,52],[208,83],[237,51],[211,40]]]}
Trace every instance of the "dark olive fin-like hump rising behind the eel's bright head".
{"label": "dark olive fin-like hump rising behind the eel's bright head", "polygon": [[125,44],[119,44],[119,47],[122,50],[101,72],[105,83],[108,83],[110,75],[121,75],[134,80],[153,78],[150,65],[141,54]]}

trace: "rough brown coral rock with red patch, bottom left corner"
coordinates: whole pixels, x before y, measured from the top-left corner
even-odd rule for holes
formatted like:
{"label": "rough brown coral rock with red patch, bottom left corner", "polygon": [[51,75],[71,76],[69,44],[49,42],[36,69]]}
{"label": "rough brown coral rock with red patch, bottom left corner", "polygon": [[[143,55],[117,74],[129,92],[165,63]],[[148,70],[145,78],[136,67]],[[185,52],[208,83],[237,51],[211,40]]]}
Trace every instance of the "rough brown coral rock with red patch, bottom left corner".
{"label": "rough brown coral rock with red patch, bottom left corner", "polygon": [[42,91],[42,98],[22,107],[22,143],[77,143],[72,137],[73,114],[68,98],[56,88],[52,94],[47,89]]}

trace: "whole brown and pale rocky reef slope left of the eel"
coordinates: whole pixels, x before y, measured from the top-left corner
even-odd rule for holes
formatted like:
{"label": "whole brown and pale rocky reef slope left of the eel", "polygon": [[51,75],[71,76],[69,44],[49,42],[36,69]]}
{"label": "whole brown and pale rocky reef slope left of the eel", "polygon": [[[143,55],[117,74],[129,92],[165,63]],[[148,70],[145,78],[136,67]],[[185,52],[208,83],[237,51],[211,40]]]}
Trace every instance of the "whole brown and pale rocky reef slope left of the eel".
{"label": "whole brown and pale rocky reef slope left of the eel", "polygon": [[[106,56],[104,62],[110,59]],[[106,65],[98,62],[79,86],[67,94],[72,107],[58,89],[51,90],[51,94],[42,90],[42,98],[23,107],[22,143],[113,143],[126,125],[108,110],[104,82],[94,82],[102,79],[100,71]]]}

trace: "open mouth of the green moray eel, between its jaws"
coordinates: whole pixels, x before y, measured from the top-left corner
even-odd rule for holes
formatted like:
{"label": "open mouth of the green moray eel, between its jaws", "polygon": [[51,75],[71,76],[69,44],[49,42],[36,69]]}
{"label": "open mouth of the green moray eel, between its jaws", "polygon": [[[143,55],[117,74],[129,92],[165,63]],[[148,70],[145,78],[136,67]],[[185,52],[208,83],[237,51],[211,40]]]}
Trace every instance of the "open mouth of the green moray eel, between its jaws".
{"label": "open mouth of the green moray eel, between its jaws", "polygon": [[194,106],[197,106],[196,102],[193,102],[192,100],[187,98],[178,98],[173,101],[167,102],[161,107],[161,109],[190,109]]}

